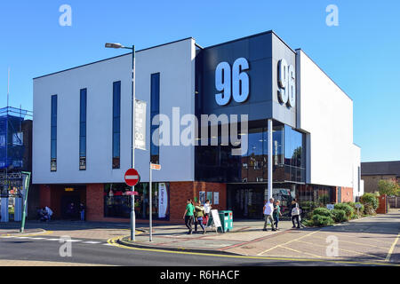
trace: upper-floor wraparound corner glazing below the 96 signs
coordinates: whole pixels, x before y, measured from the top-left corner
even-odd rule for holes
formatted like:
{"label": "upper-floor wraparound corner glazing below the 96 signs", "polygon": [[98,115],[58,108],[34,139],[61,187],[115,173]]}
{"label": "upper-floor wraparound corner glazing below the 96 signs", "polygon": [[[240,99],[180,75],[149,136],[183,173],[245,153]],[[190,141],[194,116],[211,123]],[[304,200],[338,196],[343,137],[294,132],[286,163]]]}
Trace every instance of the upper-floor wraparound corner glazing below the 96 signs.
{"label": "upper-floor wraparound corner glazing below the 96 signs", "polygon": [[[265,123],[267,124],[267,123]],[[267,182],[268,129],[249,127],[248,149],[232,156],[233,146],[196,146],[196,179],[214,182]],[[209,140],[209,145],[211,140]],[[304,134],[285,125],[273,129],[272,164],[274,182],[305,182]]]}

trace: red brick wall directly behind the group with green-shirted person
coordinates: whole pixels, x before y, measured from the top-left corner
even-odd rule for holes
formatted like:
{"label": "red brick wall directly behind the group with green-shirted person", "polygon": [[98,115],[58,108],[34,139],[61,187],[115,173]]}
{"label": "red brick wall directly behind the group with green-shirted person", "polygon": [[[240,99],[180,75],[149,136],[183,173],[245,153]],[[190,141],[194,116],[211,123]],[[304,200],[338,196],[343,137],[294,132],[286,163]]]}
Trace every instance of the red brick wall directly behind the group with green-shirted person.
{"label": "red brick wall directly behind the group with green-shirted person", "polygon": [[220,204],[213,205],[212,209],[227,209],[227,185],[205,182],[172,182],[170,183],[170,220],[178,222],[182,220],[187,200],[199,199],[200,192],[220,193]]}

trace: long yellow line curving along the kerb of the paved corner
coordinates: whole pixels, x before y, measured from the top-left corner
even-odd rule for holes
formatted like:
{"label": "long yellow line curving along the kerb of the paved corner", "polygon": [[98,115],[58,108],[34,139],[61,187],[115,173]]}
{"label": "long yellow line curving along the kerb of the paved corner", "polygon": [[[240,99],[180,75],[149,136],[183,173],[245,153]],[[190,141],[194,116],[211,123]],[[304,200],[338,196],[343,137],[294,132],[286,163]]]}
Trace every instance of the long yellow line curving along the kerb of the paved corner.
{"label": "long yellow line curving along the kerb of the paved corner", "polygon": [[260,259],[260,260],[281,260],[281,261],[298,261],[298,262],[320,262],[320,263],[334,263],[334,264],[364,264],[364,265],[383,265],[383,266],[399,266],[400,264],[386,264],[384,262],[381,263],[373,263],[373,262],[356,262],[356,261],[346,261],[346,260],[331,260],[331,259],[312,259],[312,258],[290,258],[290,257],[268,257],[268,256],[232,256],[232,255],[218,255],[218,254],[208,254],[208,253],[196,253],[196,252],[188,252],[188,251],[172,251],[172,250],[164,250],[164,249],[155,249],[155,248],[132,248],[124,245],[120,245],[116,243],[116,240],[121,237],[116,237],[113,239],[109,239],[108,244],[117,247],[117,248],[125,248],[131,250],[141,250],[141,251],[151,251],[151,252],[163,252],[169,254],[179,254],[179,255],[192,255],[192,256],[215,256],[215,257],[225,257],[225,258],[241,258],[241,259]]}

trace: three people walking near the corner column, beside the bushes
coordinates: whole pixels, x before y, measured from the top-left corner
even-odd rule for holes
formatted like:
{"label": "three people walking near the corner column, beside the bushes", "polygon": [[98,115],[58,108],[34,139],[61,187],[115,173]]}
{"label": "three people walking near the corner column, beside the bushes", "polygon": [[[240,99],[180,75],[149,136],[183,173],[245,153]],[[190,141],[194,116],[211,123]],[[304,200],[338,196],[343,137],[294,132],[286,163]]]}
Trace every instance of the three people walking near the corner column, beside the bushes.
{"label": "three people walking near the corner column, beside the bushes", "polygon": [[[264,205],[263,210],[264,210],[265,222],[263,231],[268,231],[267,230],[268,222],[271,223],[272,231],[279,230],[278,228],[279,217],[282,216],[280,204],[281,201],[274,201],[273,198],[270,198],[269,201]],[[292,200],[289,214],[292,219],[292,224],[293,224],[292,228],[300,229],[300,206],[296,199]],[[297,222],[297,226],[294,223],[294,221]]]}

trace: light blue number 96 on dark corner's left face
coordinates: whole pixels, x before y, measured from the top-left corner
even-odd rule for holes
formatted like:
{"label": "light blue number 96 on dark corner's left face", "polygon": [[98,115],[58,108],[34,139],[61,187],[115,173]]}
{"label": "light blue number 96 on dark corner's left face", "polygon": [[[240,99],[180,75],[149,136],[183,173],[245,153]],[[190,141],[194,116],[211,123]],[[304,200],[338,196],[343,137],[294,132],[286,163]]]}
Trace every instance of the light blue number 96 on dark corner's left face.
{"label": "light blue number 96 on dark corner's left face", "polygon": [[228,62],[221,62],[215,69],[215,88],[220,93],[215,95],[219,106],[228,105],[230,99],[243,103],[249,98],[249,75],[244,70],[249,69],[247,59],[236,59],[231,69]]}

